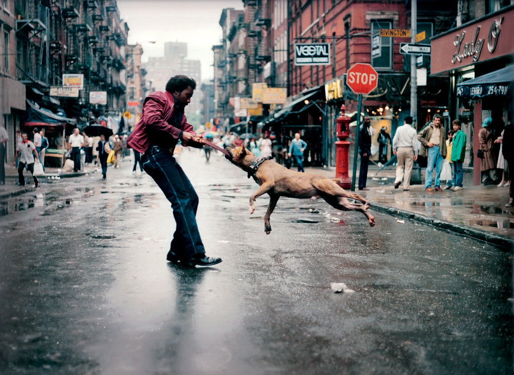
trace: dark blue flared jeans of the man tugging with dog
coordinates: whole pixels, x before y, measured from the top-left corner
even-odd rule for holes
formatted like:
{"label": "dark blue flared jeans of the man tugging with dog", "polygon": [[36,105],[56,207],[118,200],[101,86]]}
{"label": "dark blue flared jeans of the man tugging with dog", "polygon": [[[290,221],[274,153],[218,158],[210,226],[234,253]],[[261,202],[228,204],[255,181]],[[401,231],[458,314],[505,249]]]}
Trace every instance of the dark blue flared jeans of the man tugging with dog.
{"label": "dark blue flared jeans of the man tugging with dog", "polygon": [[171,202],[177,224],[170,250],[181,258],[204,254],[196,223],[198,195],[172,153],[165,149],[151,148],[143,155],[143,168],[157,182]]}

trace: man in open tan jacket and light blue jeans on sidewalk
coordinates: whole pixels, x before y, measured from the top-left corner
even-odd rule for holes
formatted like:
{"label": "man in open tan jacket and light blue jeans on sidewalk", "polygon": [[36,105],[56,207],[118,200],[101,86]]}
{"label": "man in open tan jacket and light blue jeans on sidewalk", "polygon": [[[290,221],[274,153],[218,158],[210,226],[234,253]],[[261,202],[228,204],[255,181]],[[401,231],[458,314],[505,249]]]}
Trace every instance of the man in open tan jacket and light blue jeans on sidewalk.
{"label": "man in open tan jacket and light blue jeans on sidewalk", "polygon": [[[441,126],[442,117],[434,115],[432,123],[425,127],[418,140],[421,142],[419,154],[427,157],[427,170],[425,173],[425,190],[427,192],[440,192],[440,176],[443,169],[443,160],[446,157],[446,132]],[[432,174],[435,167],[434,188],[432,188]]]}

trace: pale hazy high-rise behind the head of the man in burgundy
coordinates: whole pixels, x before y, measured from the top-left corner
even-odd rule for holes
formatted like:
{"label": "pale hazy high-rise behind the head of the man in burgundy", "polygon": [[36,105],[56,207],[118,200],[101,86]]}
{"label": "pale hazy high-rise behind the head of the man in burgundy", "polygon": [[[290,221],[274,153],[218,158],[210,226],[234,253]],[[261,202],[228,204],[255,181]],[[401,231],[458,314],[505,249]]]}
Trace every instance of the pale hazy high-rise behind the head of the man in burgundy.
{"label": "pale hazy high-rise behind the head of the man in burgundy", "polygon": [[162,57],[151,57],[148,62],[145,63],[144,68],[148,72],[146,79],[152,81],[152,87],[157,91],[164,91],[168,80],[177,74],[183,74],[184,76],[194,79],[196,81],[196,90],[191,99],[191,103],[188,105],[187,113],[199,115],[203,96],[200,90],[200,60],[188,60],[187,52],[187,43],[164,43],[164,55]]}

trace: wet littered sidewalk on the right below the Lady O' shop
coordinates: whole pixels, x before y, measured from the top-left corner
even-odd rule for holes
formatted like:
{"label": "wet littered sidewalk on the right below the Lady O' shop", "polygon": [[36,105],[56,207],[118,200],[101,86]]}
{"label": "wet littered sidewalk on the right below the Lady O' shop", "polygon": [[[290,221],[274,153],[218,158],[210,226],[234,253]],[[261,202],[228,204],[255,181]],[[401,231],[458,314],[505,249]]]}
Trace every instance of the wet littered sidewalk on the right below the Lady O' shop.
{"label": "wet littered sidewalk on the right below the Lady O' shop", "polygon": [[[399,219],[413,219],[439,229],[494,243],[507,249],[514,245],[514,209],[505,208],[508,187],[464,186],[457,192],[425,192],[424,185],[411,185],[410,191],[394,189],[395,168],[378,171],[370,165],[368,191],[357,192],[369,199],[372,210]],[[305,168],[305,172],[335,177],[335,168]],[[358,173],[358,172],[357,172]],[[425,177],[425,169],[421,170]],[[358,176],[357,176],[358,179]]]}

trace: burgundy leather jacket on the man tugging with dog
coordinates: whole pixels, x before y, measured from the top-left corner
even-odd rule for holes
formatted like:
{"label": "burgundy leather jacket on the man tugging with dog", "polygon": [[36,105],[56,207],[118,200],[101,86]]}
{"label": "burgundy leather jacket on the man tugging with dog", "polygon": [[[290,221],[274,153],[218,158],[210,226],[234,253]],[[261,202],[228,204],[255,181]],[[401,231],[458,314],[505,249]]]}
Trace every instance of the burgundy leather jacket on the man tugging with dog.
{"label": "burgundy leather jacket on the man tugging with dog", "polygon": [[[186,115],[182,117],[181,128],[177,128],[168,123],[174,107],[175,100],[168,91],[152,92],[143,102],[143,113],[141,119],[136,124],[134,131],[127,139],[127,147],[134,148],[140,153],[144,153],[150,146],[150,133],[166,132],[175,140],[170,147],[175,147],[180,132],[196,134],[193,126],[186,122]],[[151,128],[152,132],[149,132]],[[186,146],[182,141],[182,145]]]}

